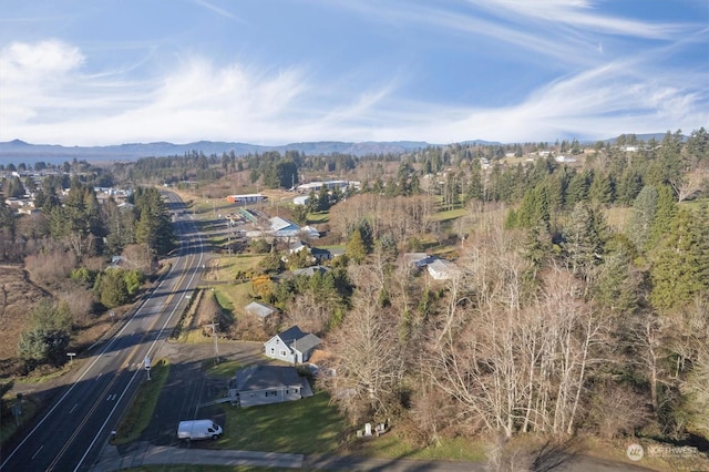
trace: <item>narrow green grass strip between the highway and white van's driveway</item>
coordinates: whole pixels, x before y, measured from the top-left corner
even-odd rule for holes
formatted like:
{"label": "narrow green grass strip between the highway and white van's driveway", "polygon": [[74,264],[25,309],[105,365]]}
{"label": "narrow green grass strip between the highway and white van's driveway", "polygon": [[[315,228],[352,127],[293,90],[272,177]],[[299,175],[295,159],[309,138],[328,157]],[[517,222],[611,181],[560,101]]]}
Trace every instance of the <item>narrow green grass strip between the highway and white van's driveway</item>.
{"label": "narrow green grass strip between the highway and white van's driveway", "polygon": [[116,429],[116,439],[114,444],[127,444],[135,441],[143,430],[147,428],[153,410],[157,404],[163,386],[167,381],[169,374],[169,362],[167,359],[160,359],[153,363],[151,368],[151,380],[144,380],[137,388],[135,397],[125,412]]}

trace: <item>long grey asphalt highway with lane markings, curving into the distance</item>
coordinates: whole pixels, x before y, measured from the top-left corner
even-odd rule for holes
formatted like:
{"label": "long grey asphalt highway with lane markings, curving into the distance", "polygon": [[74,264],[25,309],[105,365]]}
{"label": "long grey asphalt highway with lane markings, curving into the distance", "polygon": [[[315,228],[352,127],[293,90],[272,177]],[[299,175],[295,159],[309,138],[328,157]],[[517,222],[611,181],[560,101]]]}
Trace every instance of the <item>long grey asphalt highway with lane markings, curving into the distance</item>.
{"label": "long grey asphalt highway with lane markings, curving into the distance", "polygon": [[52,408],[10,452],[3,451],[1,471],[89,470],[138,384],[150,381],[144,360],[169,336],[198,283],[204,258],[191,216],[175,194],[166,196],[181,240],[172,268],[122,329],[84,361],[81,374],[56,394]]}

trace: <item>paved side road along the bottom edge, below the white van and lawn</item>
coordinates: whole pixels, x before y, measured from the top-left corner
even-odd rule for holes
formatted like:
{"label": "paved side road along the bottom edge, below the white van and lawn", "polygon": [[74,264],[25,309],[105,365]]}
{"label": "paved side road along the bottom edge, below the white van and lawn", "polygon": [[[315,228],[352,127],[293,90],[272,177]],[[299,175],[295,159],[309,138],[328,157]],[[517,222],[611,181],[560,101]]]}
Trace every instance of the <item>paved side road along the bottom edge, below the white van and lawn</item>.
{"label": "paved side road along the bottom edge, below the white van and lawn", "polygon": [[[603,461],[589,456],[574,456],[555,468],[568,472],[623,472],[650,471],[635,464]],[[564,461],[561,461],[564,462]],[[433,472],[484,472],[483,462],[413,461],[404,459],[371,459],[356,456],[320,456],[282,454],[276,452],[233,451],[199,448],[174,448],[137,442],[123,454],[114,445],[106,444],[94,472],[113,472],[141,465],[203,464],[203,465],[251,465],[261,468],[304,469],[309,471],[433,471]]]}

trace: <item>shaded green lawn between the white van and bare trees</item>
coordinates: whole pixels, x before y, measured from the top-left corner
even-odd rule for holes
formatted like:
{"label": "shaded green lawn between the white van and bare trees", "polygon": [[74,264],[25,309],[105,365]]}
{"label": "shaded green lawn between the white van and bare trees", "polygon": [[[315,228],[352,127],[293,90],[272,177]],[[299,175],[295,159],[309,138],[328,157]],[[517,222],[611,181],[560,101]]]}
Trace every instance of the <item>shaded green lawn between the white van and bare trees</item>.
{"label": "shaded green lawn between the white van and bare trees", "polygon": [[325,392],[298,401],[250,408],[225,407],[219,449],[295,454],[335,453],[345,422]]}

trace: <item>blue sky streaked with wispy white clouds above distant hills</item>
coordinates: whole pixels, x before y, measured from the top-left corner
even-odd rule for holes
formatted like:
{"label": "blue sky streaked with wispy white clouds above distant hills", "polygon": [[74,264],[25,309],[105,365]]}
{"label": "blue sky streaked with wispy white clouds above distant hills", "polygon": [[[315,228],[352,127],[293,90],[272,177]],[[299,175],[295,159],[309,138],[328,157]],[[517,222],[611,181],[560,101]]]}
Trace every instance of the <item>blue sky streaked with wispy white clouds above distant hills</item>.
{"label": "blue sky streaked with wispy white clouds above distant hills", "polygon": [[707,0],[0,0],[0,141],[554,142],[708,125]]}

